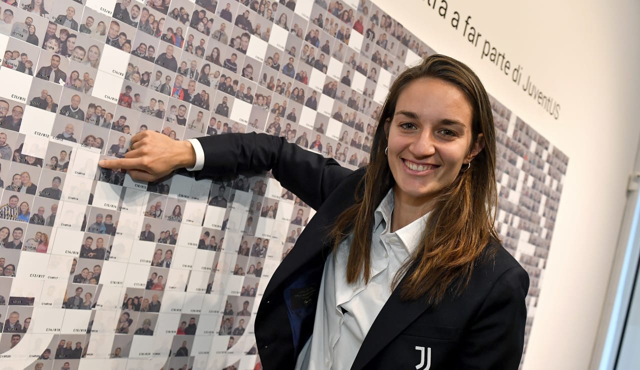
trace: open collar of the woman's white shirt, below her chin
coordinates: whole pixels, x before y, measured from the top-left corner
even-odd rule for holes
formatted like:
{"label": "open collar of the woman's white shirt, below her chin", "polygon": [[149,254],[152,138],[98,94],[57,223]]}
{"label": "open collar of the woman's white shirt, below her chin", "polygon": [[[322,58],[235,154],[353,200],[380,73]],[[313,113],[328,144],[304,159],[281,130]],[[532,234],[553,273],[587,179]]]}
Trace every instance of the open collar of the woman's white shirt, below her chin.
{"label": "open collar of the woman's white shirt, below her chin", "polygon": [[[391,188],[387,192],[387,195],[382,199],[376,211],[374,213],[374,230],[378,227],[383,227],[383,231],[381,234],[387,234],[390,232],[391,228],[391,216],[394,211],[394,189]],[[420,216],[412,223],[402,227],[401,229],[396,230],[394,234],[399,237],[400,241],[403,243],[404,248],[408,250],[411,254],[417,248],[418,243],[420,243],[420,238],[422,237],[422,230],[426,226],[427,218],[429,217],[428,213]]]}

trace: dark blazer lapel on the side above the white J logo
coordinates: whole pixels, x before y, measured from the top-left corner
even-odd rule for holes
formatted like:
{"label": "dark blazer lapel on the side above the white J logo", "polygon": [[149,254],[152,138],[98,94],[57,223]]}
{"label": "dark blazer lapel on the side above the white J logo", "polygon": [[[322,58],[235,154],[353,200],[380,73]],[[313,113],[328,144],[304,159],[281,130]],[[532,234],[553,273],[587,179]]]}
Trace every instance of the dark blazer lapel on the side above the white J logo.
{"label": "dark blazer lapel on the side above the white J logo", "polygon": [[404,280],[415,270],[415,267],[416,265],[414,264],[412,268],[404,274],[400,284],[394,289],[387,303],[385,303],[373,321],[353,361],[351,370],[364,368],[389,342],[395,339],[407,326],[411,325],[415,319],[431,307],[431,303],[427,303],[421,299],[405,301],[400,297]]}

